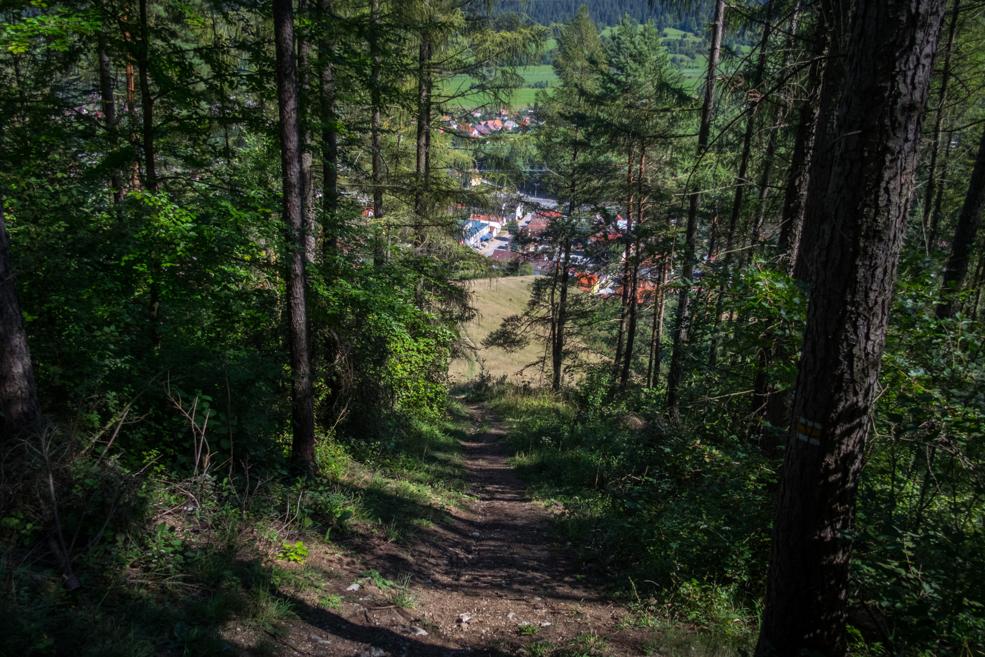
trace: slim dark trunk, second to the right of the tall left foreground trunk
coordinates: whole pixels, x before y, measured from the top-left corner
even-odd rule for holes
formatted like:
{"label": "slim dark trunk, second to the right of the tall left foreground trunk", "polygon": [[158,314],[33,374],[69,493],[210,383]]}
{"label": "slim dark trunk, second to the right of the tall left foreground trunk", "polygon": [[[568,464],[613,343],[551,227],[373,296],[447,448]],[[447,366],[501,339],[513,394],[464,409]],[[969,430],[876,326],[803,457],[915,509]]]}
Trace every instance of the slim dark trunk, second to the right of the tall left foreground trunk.
{"label": "slim dark trunk, second to the right of the tall left foreground trunk", "polygon": [[[328,31],[328,21],[332,16],[331,0],[318,0],[318,11],[322,22],[322,33]],[[321,149],[322,149],[322,202],[325,219],[322,230],[325,244],[330,249],[338,247],[339,227],[337,210],[339,203],[339,143],[335,128],[335,70],[331,60],[335,46],[326,40],[320,43],[321,67],[318,79],[321,83]]]}

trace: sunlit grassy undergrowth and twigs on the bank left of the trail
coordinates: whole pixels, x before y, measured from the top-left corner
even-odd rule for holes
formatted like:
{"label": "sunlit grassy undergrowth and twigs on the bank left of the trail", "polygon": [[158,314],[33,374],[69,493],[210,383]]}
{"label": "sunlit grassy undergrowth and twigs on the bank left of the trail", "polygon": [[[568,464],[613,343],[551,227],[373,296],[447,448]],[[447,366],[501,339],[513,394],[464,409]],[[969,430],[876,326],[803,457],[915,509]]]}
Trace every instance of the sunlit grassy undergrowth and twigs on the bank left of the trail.
{"label": "sunlit grassy undergrowth and twigs on the bank left of the trail", "polygon": [[[90,526],[108,529],[89,550],[76,541],[80,585],[68,590],[31,526],[31,505],[3,518],[0,655],[272,654],[280,621],[304,618],[309,606],[339,608],[324,587],[340,574],[312,557],[365,541],[404,544],[465,501],[459,440],[468,424],[451,400],[446,421],[409,427],[382,448],[322,440],[316,480],[116,472],[132,487],[113,498],[126,507],[116,512],[79,503],[109,497],[91,460],[63,464],[62,479],[90,475],[74,489],[59,483],[66,533],[73,523],[83,537]],[[409,583],[397,590],[394,604],[413,606]]]}

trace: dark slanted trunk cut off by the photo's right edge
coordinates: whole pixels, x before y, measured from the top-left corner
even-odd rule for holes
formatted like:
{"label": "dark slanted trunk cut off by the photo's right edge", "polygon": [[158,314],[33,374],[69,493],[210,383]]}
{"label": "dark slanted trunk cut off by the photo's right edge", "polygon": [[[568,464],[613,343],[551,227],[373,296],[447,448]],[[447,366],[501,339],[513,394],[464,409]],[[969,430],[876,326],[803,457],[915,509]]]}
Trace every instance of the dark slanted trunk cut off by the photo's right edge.
{"label": "dark slanted trunk cut off by the photo's right edge", "polygon": [[971,180],[968,182],[968,191],[964,195],[961,214],[957,216],[951,255],[944,265],[941,302],[936,312],[938,319],[953,317],[960,307],[959,293],[968,274],[968,258],[971,255],[975,234],[978,232],[978,220],[982,216],[983,204],[985,204],[985,134],[982,135],[978,145],[978,155],[971,170]]}

